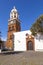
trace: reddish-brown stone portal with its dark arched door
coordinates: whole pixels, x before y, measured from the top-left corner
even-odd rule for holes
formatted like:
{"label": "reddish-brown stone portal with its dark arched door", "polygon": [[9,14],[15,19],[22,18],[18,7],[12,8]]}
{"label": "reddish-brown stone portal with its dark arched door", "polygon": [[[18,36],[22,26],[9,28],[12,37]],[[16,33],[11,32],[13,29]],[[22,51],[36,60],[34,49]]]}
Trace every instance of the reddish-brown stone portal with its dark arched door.
{"label": "reddish-brown stone portal with its dark arched door", "polygon": [[[31,45],[29,45],[30,42],[31,42]],[[26,37],[26,48],[27,50],[34,50],[34,37],[32,35],[28,35]]]}

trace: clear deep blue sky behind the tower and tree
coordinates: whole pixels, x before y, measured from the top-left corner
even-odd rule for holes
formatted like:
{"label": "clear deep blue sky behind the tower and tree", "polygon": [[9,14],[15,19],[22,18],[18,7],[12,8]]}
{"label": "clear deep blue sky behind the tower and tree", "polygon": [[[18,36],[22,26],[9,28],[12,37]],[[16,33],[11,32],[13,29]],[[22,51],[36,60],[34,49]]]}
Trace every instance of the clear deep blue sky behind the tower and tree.
{"label": "clear deep blue sky behind the tower and tree", "polygon": [[29,30],[36,19],[43,14],[43,0],[0,0],[0,31],[7,37],[10,11],[16,7],[21,20],[21,30]]}

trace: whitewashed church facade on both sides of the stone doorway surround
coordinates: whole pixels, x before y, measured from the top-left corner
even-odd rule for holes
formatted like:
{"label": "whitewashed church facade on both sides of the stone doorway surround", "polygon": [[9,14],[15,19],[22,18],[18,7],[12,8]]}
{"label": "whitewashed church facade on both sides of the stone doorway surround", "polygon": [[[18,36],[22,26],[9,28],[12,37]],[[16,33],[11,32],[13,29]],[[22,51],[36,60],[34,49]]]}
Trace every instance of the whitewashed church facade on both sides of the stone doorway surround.
{"label": "whitewashed church facade on both sides of the stone doorway surround", "polygon": [[[14,33],[14,51],[27,51],[26,49],[27,33],[31,35],[30,30]],[[43,51],[43,35],[36,35],[34,37],[34,50]]]}

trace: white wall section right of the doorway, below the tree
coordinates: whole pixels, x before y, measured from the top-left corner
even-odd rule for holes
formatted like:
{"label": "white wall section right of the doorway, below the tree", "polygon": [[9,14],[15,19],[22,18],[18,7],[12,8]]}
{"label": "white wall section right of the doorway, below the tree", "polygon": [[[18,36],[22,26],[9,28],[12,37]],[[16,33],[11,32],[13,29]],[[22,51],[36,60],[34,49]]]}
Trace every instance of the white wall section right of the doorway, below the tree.
{"label": "white wall section right of the doorway, below the tree", "polygon": [[35,39],[35,51],[43,51],[43,35],[36,36]]}

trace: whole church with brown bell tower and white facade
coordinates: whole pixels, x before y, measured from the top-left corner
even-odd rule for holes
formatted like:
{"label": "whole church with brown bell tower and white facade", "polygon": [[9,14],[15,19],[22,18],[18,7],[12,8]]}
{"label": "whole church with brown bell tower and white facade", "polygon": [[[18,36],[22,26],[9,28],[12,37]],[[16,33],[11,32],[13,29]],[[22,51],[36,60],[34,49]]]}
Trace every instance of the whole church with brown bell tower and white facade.
{"label": "whole church with brown bell tower and white facade", "polygon": [[15,7],[11,10],[8,20],[6,48],[13,48],[14,51],[43,51],[43,35],[33,36],[30,30],[21,31],[19,15]]}

